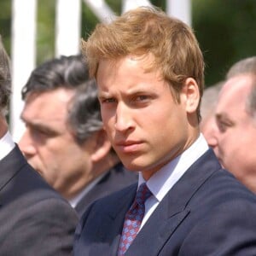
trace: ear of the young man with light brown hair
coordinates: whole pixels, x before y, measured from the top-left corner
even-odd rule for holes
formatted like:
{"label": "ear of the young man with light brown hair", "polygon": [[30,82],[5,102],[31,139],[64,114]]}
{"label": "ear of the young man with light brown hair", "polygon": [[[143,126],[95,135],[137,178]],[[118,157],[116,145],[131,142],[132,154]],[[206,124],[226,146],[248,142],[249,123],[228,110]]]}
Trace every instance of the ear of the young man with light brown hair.
{"label": "ear of the young man with light brown hair", "polygon": [[195,79],[188,78],[183,85],[187,113],[195,113],[200,102],[200,91]]}

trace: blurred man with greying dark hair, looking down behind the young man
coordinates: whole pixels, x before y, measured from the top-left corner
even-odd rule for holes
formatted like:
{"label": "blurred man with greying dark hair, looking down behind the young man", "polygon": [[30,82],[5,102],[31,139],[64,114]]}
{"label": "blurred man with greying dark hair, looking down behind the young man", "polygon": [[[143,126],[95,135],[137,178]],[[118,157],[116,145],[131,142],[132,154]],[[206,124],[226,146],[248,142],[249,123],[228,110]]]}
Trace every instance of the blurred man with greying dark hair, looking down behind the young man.
{"label": "blurred man with greying dark hair, looking down behind the young man", "polygon": [[37,67],[22,90],[28,162],[81,215],[91,201],[137,182],[125,171],[102,127],[94,80],[81,55]]}

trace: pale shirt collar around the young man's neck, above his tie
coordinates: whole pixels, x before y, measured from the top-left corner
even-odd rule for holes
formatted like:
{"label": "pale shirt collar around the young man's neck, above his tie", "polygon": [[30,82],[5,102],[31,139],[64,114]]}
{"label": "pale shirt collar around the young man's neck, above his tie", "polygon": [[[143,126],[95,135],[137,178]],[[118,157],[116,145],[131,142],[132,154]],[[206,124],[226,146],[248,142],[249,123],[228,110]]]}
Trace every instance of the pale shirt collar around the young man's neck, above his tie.
{"label": "pale shirt collar around the young man's neck, above his tie", "polygon": [[[183,176],[195,160],[198,160],[207,149],[207,141],[201,134],[195,143],[148,179],[148,189],[150,189],[157,201],[161,201],[164,198],[180,177]],[[145,180],[143,179],[142,173],[139,172],[138,186],[143,182]]]}

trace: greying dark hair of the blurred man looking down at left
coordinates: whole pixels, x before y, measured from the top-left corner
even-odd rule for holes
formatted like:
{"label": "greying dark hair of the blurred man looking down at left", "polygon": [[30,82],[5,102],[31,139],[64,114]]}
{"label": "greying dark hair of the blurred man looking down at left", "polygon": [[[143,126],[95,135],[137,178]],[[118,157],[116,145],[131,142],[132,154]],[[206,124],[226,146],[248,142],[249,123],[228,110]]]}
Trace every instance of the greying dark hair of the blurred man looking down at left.
{"label": "greying dark hair of the blurred man looking down at left", "polygon": [[78,143],[102,129],[100,104],[94,79],[89,79],[86,61],[82,55],[61,56],[46,61],[32,73],[22,89],[22,99],[30,93],[40,93],[58,88],[74,90],[68,105],[67,125]]}

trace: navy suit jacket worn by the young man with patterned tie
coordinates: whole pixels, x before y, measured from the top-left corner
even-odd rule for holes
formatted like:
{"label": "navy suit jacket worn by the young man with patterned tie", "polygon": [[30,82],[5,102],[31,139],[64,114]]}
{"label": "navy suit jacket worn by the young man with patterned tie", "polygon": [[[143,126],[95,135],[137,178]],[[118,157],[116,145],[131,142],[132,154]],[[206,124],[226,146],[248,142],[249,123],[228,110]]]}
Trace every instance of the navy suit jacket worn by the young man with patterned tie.
{"label": "navy suit jacket worn by the young man with patterned tie", "polygon": [[[75,256],[116,255],[136,185],[96,201],[76,230]],[[160,202],[125,256],[256,255],[256,199],[209,149]]]}

